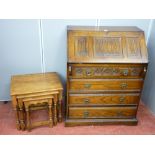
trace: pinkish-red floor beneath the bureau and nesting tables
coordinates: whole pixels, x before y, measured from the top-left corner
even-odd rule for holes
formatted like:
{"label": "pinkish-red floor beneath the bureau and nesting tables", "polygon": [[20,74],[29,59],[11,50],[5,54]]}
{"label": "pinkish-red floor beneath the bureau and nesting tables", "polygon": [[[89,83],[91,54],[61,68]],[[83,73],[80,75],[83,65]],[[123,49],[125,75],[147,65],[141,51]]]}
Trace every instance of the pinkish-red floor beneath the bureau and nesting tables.
{"label": "pinkish-red floor beneath the bureau and nesting tables", "polygon": [[[32,121],[46,119],[46,111],[38,111],[33,113]],[[18,131],[15,126],[15,116],[12,111],[11,103],[4,104],[0,102],[0,134],[1,135],[143,135],[155,134],[155,115],[147,109],[147,107],[140,103],[138,110],[137,126],[125,125],[104,125],[104,126],[77,126],[64,127],[64,122],[49,127],[39,127],[33,129],[31,132]]]}

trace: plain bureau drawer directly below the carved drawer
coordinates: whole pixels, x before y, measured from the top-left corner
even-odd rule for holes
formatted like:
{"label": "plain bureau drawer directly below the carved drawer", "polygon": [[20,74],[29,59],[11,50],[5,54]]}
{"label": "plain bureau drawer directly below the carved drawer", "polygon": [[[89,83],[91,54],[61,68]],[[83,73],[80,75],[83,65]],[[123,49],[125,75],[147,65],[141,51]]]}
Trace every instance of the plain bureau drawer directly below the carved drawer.
{"label": "plain bureau drawer directly below the carved drawer", "polygon": [[142,79],[70,79],[70,92],[74,91],[140,91],[143,86]]}

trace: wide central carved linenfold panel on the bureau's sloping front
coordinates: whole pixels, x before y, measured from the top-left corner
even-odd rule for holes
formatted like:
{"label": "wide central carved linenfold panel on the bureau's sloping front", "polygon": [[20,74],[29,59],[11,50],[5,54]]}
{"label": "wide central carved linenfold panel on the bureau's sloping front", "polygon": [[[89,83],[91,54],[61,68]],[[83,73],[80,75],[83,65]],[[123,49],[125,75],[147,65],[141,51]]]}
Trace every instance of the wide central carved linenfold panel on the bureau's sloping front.
{"label": "wide central carved linenfold panel on the bureau's sloping front", "polygon": [[120,37],[95,37],[95,57],[122,57],[122,46]]}

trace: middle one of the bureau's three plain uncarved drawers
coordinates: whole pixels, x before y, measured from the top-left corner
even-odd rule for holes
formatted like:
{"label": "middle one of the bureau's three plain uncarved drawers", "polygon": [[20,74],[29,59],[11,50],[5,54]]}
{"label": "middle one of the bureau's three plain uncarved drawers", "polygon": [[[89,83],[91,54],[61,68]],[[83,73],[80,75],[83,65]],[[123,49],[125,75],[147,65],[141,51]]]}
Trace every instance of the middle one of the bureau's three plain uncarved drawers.
{"label": "middle one of the bureau's three plain uncarved drawers", "polygon": [[80,105],[136,105],[140,94],[69,94],[69,104]]}

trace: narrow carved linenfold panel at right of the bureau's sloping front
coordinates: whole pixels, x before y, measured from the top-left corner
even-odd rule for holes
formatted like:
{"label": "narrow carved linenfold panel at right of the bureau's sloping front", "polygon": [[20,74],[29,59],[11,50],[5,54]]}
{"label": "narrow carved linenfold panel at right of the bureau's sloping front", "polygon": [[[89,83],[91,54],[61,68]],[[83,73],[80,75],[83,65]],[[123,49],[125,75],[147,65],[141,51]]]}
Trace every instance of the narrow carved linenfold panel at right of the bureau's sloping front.
{"label": "narrow carved linenfold panel at right of the bureau's sloping front", "polygon": [[126,38],[128,57],[141,58],[140,42],[138,37]]}

